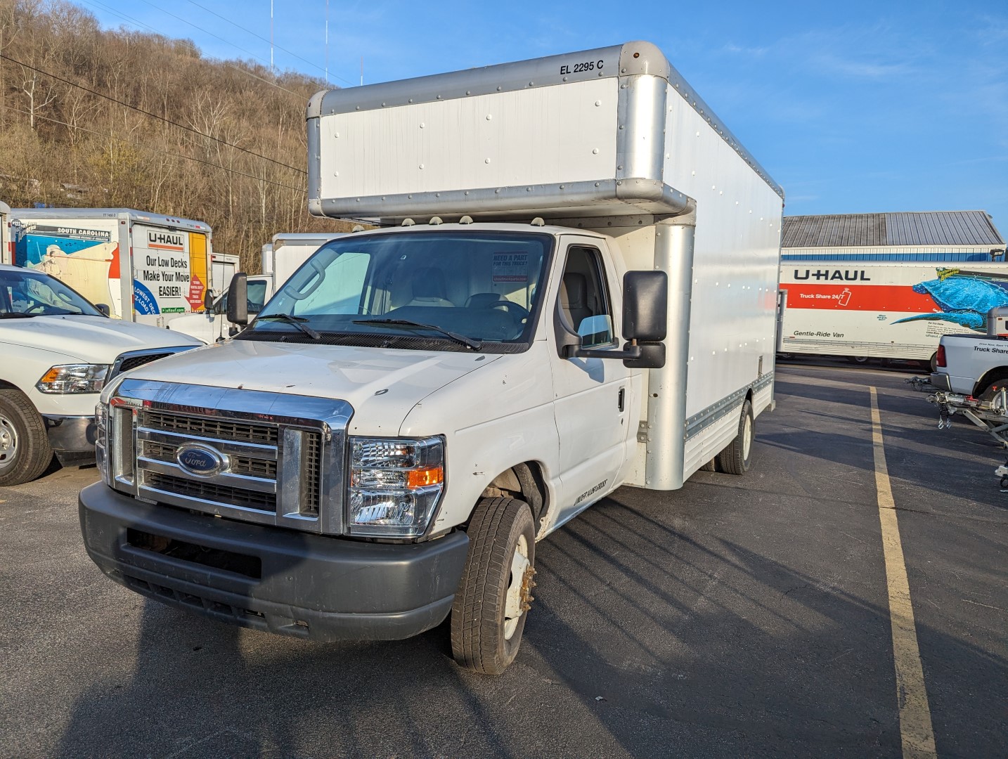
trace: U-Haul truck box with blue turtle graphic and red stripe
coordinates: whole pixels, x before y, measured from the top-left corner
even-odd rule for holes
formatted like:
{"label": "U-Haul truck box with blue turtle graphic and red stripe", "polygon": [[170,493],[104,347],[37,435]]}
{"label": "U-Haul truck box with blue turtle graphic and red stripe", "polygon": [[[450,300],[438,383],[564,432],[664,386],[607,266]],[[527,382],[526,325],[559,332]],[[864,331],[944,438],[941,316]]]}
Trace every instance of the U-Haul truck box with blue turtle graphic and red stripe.
{"label": "U-Haul truck box with blue turtle graphic and red stripe", "polygon": [[1008,305],[1008,263],[789,260],[780,291],[780,353],[931,361]]}

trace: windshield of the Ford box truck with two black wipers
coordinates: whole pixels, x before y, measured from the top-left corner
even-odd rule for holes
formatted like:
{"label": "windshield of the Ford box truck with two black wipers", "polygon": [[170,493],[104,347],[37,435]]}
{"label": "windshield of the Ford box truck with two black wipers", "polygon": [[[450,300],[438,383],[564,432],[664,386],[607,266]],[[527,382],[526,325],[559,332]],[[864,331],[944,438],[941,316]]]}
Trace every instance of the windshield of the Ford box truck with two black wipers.
{"label": "windshield of the Ford box truck with two black wipers", "polygon": [[320,248],[241,337],[523,350],[531,340],[551,249],[552,237],[541,233],[342,237]]}

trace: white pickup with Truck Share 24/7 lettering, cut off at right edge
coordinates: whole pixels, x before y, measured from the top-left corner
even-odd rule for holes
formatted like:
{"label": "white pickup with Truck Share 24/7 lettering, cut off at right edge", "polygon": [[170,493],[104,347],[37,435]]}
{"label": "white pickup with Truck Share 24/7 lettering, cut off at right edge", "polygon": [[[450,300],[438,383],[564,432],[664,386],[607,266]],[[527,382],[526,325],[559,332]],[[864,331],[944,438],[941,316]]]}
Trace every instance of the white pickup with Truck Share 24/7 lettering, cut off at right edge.
{"label": "white pickup with Truck Share 24/7 lettering, cut off at right edge", "polygon": [[992,308],[986,334],[944,335],[931,384],[946,392],[980,398],[1008,383],[1008,308]]}

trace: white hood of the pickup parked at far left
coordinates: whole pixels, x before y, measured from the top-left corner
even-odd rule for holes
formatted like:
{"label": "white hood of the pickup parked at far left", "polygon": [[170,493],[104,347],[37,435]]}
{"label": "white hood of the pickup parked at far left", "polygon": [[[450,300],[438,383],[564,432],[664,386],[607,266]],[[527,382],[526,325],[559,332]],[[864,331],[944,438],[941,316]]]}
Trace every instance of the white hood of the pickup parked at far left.
{"label": "white hood of the pickup parked at far left", "polygon": [[70,361],[111,364],[127,351],[201,346],[188,335],[105,317],[0,319],[0,346],[23,345],[65,355]]}

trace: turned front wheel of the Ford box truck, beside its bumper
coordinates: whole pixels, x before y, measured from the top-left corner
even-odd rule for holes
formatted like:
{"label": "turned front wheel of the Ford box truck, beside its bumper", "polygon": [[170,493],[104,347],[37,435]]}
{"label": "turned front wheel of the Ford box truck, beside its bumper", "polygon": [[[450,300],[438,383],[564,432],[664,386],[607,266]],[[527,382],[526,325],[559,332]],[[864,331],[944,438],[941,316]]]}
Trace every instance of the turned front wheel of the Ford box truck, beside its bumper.
{"label": "turned front wheel of the Ford box truck, beside its bumper", "polygon": [[532,511],[511,498],[481,499],[469,541],[452,606],[452,654],[467,669],[500,674],[518,653],[532,601]]}

